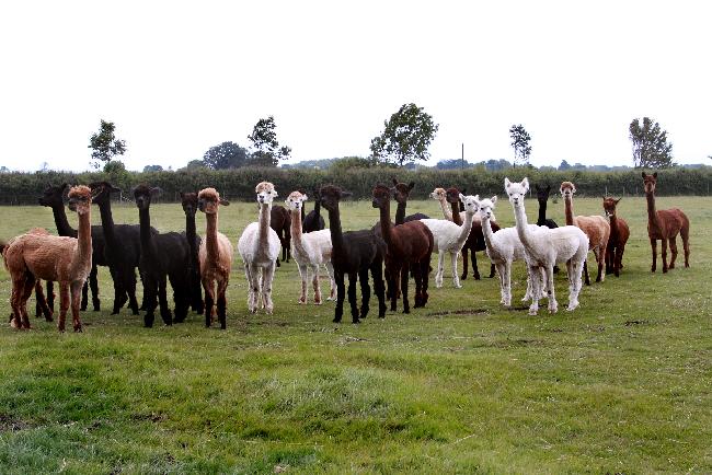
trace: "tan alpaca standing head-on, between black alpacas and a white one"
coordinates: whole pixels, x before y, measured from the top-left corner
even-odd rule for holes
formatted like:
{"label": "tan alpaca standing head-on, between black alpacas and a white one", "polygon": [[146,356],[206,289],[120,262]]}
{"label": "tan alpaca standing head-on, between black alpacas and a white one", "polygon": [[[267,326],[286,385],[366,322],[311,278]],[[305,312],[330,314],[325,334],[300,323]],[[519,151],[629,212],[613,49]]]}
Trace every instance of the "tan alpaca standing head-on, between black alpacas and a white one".
{"label": "tan alpaca standing head-on, between black alpacas and a white one", "polygon": [[[198,209],[205,213],[207,228],[205,240],[200,243],[198,260],[200,262],[200,280],[205,290],[205,326],[209,327],[214,320],[214,302],[217,302],[220,328],[227,326],[226,290],[230,281],[232,267],[232,244],[230,240],[218,232],[218,207],[230,202],[220,199],[215,188],[205,188],[198,193]],[[217,300],[215,282],[218,283]]]}

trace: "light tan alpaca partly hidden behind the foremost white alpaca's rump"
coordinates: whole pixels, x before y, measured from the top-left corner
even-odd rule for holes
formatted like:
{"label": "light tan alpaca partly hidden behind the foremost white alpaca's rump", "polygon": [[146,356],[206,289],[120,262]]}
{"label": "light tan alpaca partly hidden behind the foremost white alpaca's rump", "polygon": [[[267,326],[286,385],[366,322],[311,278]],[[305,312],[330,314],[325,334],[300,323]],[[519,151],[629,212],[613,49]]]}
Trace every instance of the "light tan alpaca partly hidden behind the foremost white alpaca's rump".
{"label": "light tan alpaca partly hidden behind the foremost white alpaca's rump", "polygon": [[[598,263],[596,281],[601,282],[606,279],[604,262],[606,260],[606,247],[610,238],[610,224],[608,224],[608,221],[602,216],[574,216],[574,193],[576,193],[576,186],[573,183],[562,182],[559,192],[564,198],[566,225],[575,225],[588,236],[588,251],[594,252],[596,262]],[[586,262],[584,262],[584,275],[586,285],[590,286]]]}

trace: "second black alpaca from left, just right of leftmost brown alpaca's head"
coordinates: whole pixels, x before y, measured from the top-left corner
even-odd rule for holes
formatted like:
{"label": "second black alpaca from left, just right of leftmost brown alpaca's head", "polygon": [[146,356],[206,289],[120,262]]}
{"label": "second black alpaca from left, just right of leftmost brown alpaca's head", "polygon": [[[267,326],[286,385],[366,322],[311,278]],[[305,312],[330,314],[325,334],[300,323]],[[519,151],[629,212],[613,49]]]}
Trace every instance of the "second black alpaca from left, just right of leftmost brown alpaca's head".
{"label": "second black alpaca from left, just right of leftmost brown alpaca's head", "polygon": [[[112,215],[112,193],[120,193],[108,182],[91,183],[89,187],[94,193],[92,202],[99,206],[104,235],[104,258],[114,280],[114,308],[112,315],[119,313],[128,302],[134,315],[138,315],[136,300],[136,267],[141,255],[141,234],[136,224],[114,224]],[[152,232],[158,232],[152,230]],[[146,289],[143,289],[146,296]]]}

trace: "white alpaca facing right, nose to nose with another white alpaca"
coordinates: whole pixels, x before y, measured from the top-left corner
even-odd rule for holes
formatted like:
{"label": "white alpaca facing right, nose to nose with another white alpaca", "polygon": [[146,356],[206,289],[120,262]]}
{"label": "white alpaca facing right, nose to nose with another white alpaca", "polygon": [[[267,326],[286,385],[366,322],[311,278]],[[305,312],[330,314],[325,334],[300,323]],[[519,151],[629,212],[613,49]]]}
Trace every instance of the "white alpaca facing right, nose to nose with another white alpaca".
{"label": "white alpaca facing right, nose to nose with another white alpaca", "polygon": [[445,219],[421,220],[433,233],[433,251],[437,251],[438,253],[437,273],[435,274],[435,287],[438,289],[443,287],[443,273],[445,271],[444,257],[446,252],[450,253],[452,262],[452,285],[458,289],[462,287],[458,277],[458,255],[470,235],[472,217],[478,210],[475,205],[478,198],[479,196],[464,197],[460,195],[460,199],[464,202],[466,213],[462,225],[457,225],[452,221]]}

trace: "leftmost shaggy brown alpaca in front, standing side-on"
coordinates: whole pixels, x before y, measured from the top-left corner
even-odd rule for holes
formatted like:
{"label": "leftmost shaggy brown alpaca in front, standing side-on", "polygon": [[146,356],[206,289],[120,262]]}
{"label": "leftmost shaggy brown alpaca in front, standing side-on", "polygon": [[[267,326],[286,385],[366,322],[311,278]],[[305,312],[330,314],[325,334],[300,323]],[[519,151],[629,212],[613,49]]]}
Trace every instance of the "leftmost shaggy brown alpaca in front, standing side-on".
{"label": "leftmost shaggy brown alpaca in front, standing side-on", "polygon": [[35,279],[45,279],[59,282],[59,331],[65,331],[71,293],[72,324],[74,332],[81,332],[81,289],[92,266],[91,201],[89,187],[74,186],[69,190],[69,209],[79,216],[77,238],[23,234],[5,250],[5,267],[12,277],[10,304],[15,315],[14,327],[30,328],[27,299]]}

